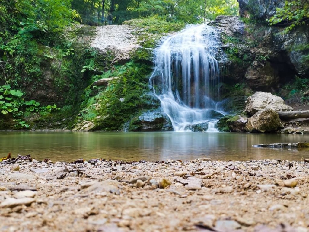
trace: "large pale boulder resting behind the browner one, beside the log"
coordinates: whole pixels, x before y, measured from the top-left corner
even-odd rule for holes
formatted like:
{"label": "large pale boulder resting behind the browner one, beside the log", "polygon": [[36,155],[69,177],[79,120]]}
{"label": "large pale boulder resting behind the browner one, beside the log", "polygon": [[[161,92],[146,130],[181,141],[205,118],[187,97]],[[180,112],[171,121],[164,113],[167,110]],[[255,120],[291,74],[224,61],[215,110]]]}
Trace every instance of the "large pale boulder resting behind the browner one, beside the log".
{"label": "large pale boulder resting behind the browner one, beside the log", "polygon": [[247,98],[245,111],[253,115],[259,110],[272,109],[275,111],[293,111],[293,108],[286,105],[283,99],[269,92],[255,92]]}

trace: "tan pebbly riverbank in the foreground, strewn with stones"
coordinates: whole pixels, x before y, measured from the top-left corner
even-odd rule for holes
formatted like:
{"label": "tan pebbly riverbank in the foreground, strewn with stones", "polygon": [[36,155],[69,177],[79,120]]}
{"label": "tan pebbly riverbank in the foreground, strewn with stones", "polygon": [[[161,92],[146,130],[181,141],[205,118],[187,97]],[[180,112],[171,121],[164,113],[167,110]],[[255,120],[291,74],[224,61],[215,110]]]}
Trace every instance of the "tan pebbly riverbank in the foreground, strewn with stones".
{"label": "tan pebbly riverbank in the foreground, strewn with stones", "polygon": [[307,162],[0,163],[0,231],[309,231]]}

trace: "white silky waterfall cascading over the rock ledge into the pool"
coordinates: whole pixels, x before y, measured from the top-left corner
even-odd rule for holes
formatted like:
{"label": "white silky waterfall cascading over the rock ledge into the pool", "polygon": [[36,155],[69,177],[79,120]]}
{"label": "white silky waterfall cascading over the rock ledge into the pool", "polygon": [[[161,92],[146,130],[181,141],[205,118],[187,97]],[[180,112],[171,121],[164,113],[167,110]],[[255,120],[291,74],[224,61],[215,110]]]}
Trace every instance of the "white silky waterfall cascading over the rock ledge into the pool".
{"label": "white silky waterfall cascading over the rock ledge into the pool", "polygon": [[155,50],[149,84],[175,131],[207,124],[207,131],[218,131],[214,125],[224,113],[210,96],[219,94],[219,65],[214,58],[219,49],[214,28],[198,25],[167,38]]}

